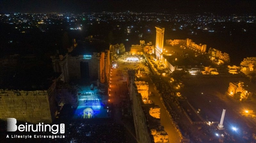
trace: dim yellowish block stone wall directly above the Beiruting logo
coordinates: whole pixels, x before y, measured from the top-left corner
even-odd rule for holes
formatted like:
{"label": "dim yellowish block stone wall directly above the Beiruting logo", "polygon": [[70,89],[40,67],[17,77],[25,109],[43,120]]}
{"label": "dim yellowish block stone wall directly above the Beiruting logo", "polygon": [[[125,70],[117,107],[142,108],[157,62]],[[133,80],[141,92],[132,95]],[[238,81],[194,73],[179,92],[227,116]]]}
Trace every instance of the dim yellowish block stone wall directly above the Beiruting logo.
{"label": "dim yellowish block stone wall directly above the Beiruting logo", "polygon": [[52,123],[47,90],[0,90],[0,119]]}

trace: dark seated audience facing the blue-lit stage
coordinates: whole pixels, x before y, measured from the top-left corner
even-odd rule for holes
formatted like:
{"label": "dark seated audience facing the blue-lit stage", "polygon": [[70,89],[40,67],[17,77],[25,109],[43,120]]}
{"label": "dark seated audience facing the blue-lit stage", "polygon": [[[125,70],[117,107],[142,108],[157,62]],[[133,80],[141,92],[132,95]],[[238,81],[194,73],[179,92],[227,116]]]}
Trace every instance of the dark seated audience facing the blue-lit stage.
{"label": "dark seated audience facing the blue-lit stage", "polygon": [[125,143],[125,127],[116,123],[69,124],[66,143]]}

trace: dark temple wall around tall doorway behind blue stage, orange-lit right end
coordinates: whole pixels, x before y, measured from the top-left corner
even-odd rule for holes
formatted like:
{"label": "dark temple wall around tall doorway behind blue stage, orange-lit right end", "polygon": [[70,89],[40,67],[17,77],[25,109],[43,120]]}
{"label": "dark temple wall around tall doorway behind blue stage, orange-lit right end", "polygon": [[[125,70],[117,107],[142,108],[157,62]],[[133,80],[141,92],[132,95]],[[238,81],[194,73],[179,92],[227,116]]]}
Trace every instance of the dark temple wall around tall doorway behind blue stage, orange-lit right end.
{"label": "dark temple wall around tall doorway behind blue stage, orange-lit right end", "polygon": [[69,79],[81,79],[81,62],[88,62],[90,80],[100,79],[101,82],[104,82],[106,80],[104,78],[109,78],[107,75],[110,66],[109,50],[89,55],[66,55],[60,58],[52,56],[51,58],[54,71],[63,73],[64,77],[62,80],[65,82],[68,82]]}

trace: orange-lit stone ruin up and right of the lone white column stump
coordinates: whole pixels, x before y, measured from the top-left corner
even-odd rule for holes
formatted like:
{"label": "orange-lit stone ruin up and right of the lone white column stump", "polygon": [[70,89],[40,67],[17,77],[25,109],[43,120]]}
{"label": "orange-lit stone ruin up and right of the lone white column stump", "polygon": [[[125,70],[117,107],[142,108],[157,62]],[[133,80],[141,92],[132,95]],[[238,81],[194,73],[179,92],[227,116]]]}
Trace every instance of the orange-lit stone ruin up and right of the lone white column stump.
{"label": "orange-lit stone ruin up and right of the lone white column stump", "polygon": [[252,97],[252,92],[245,90],[243,84],[243,82],[230,82],[226,94],[240,101],[247,100],[248,98]]}

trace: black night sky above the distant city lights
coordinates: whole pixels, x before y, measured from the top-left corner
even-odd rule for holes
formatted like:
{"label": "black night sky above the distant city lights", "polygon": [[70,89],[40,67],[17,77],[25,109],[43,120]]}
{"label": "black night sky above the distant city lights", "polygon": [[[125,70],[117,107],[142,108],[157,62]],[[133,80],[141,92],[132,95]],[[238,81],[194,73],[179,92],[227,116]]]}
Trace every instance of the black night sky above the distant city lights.
{"label": "black night sky above the distant city lights", "polygon": [[169,12],[256,14],[255,0],[0,0],[0,12]]}

